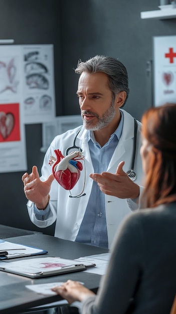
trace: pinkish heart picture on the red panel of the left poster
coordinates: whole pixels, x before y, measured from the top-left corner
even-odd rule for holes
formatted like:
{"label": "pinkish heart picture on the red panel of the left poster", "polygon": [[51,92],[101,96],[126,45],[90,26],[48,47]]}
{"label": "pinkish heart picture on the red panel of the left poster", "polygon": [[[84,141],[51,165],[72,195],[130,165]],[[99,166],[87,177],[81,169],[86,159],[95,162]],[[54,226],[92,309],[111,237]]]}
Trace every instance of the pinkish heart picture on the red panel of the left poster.
{"label": "pinkish heart picture on the red panel of the left poster", "polygon": [[14,115],[10,112],[0,112],[0,134],[6,139],[12,132],[15,124]]}

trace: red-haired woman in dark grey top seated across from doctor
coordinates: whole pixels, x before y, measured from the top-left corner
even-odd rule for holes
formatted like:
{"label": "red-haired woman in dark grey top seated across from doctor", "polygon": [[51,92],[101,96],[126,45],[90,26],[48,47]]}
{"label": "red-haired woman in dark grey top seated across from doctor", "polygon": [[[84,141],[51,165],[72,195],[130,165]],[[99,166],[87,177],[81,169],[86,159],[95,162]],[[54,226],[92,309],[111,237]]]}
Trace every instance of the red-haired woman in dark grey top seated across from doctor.
{"label": "red-haired woman in dark grey top seated across from doctor", "polygon": [[95,295],[76,281],[53,288],[82,314],[168,314],[176,292],[176,104],[142,117],[140,210],[122,223]]}

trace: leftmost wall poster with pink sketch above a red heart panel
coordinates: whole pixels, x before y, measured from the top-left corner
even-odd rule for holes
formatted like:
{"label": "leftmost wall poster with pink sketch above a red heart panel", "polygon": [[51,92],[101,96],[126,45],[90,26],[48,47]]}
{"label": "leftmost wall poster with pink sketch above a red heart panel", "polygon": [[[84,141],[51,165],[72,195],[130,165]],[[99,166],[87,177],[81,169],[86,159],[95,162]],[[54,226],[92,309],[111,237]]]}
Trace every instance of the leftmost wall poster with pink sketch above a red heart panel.
{"label": "leftmost wall poster with pink sketch above a red heart panel", "polygon": [[0,172],[27,169],[22,111],[22,62],[18,46],[0,46]]}

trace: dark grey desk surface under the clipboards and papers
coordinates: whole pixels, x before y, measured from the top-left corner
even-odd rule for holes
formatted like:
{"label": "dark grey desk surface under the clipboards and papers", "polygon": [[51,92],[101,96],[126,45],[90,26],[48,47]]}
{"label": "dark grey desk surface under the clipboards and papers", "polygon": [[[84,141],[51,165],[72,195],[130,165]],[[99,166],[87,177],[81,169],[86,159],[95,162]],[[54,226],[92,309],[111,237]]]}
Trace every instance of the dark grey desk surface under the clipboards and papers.
{"label": "dark grey desk surface under the clipboards and papers", "polygon": [[[45,234],[32,234],[13,238],[7,241],[39,247],[48,251],[45,256],[59,256],[62,258],[76,259],[79,257],[107,253],[108,250],[90,245],[85,245],[68,240],[62,240]],[[44,255],[42,255],[44,257]],[[26,257],[38,258],[38,256]],[[97,291],[101,276],[86,273],[84,271],[68,273],[58,276],[30,279],[27,277],[5,273],[0,271],[0,314],[20,313],[30,307],[61,300],[59,295],[46,296],[37,294],[25,287],[27,284],[39,284],[44,282],[66,281],[68,279],[79,280],[94,292]]]}

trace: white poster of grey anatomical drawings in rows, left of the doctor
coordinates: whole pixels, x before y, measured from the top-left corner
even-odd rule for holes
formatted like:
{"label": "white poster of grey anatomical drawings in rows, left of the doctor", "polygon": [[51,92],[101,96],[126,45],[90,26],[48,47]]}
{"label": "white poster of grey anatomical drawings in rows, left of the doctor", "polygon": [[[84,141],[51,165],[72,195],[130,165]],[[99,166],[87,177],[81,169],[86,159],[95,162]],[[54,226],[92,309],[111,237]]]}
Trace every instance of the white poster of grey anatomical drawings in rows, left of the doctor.
{"label": "white poster of grey anatomical drawings in rows, left of the doctor", "polygon": [[23,47],[23,107],[25,123],[55,117],[53,45]]}

